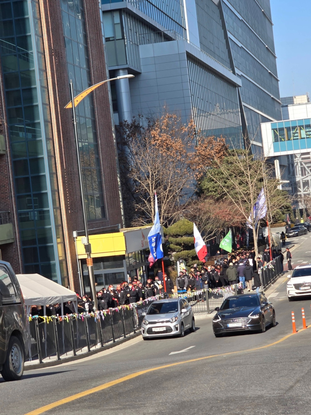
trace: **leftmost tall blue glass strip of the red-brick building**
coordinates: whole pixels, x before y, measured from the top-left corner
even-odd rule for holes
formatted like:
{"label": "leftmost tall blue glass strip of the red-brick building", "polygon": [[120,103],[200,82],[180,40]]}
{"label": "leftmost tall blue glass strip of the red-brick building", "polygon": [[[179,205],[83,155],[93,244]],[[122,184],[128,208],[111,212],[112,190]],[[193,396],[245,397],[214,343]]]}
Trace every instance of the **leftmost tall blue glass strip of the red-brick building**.
{"label": "leftmost tall blue glass strip of the red-brick building", "polygon": [[0,52],[24,271],[67,276],[36,0],[0,3]]}

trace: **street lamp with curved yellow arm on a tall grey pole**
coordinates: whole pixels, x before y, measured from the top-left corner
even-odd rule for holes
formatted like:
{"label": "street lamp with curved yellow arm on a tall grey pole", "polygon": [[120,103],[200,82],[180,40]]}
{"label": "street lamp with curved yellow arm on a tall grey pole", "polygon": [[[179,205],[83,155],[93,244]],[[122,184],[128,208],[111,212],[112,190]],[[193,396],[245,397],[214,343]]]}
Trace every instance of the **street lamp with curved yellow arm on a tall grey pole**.
{"label": "street lamp with curved yellow arm on a tall grey pole", "polygon": [[94,279],[94,270],[93,270],[93,258],[91,257],[91,244],[89,243],[88,239],[88,230],[87,230],[87,217],[86,217],[86,205],[84,200],[84,190],[83,190],[83,181],[82,181],[82,169],[81,169],[81,160],[80,160],[80,151],[79,151],[79,138],[78,138],[78,128],[77,128],[77,116],[76,116],[76,106],[93,90],[98,88],[99,86],[103,85],[106,82],[114,81],[121,78],[134,78],[134,75],[123,75],[118,76],[116,78],[110,78],[106,79],[105,81],[99,82],[98,84],[95,84],[80,94],[78,94],[76,97],[74,96],[73,91],[73,84],[72,80],[70,79],[70,101],[66,105],[65,108],[72,108],[72,124],[74,129],[74,141],[75,141],[75,147],[76,147],[76,155],[77,155],[77,162],[78,162],[78,172],[79,172],[79,186],[80,186],[80,193],[81,193],[81,204],[82,204],[82,213],[83,213],[83,224],[84,224],[84,240],[83,244],[86,250],[87,258],[86,258],[86,265],[88,270],[88,276],[90,280],[91,285],[91,292],[93,297],[93,309],[94,311],[97,311],[97,301],[96,301],[96,287],[95,287],[95,279]]}

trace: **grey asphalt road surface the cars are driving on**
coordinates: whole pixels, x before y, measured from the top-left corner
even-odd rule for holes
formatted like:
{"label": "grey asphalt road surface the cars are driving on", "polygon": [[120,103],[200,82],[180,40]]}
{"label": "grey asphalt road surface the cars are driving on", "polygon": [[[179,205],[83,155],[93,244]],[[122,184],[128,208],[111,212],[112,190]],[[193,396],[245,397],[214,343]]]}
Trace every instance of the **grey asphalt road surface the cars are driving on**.
{"label": "grey asphalt road surface the cars are driving on", "polygon": [[[292,250],[294,266],[311,259],[311,234],[303,238],[290,240],[302,242]],[[6,383],[0,378],[0,412],[28,414],[138,371],[205,358],[141,374],[45,414],[311,414],[311,327],[282,340],[292,332],[292,311],[297,329],[302,328],[301,307],[311,325],[311,297],[290,303],[286,275],[268,291],[278,324],[265,333],[216,339],[211,319],[205,318],[197,320],[196,332],[184,338],[144,342],[139,337],[96,357],[27,371],[18,382]],[[259,348],[262,346],[267,347]],[[257,350],[247,351],[254,348]],[[170,355],[184,349],[188,350]],[[206,359],[214,355],[218,356]]]}

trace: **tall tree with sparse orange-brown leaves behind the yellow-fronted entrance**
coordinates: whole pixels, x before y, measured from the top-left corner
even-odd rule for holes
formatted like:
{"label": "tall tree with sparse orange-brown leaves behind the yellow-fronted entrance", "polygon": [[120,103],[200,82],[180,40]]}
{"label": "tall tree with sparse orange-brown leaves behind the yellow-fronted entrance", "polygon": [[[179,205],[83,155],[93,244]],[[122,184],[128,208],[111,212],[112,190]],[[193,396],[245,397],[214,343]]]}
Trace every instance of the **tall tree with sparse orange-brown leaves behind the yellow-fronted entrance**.
{"label": "tall tree with sparse orange-brown leaves behind the yellow-fronted entrance", "polygon": [[[221,153],[223,139],[198,135],[193,120],[183,124],[177,114],[165,112],[158,119],[138,117],[119,128],[119,162],[123,198],[132,225],[150,223],[155,215],[154,194],[158,199],[163,225],[178,216],[185,201],[195,191],[203,158]],[[132,205],[132,210],[129,209]]]}

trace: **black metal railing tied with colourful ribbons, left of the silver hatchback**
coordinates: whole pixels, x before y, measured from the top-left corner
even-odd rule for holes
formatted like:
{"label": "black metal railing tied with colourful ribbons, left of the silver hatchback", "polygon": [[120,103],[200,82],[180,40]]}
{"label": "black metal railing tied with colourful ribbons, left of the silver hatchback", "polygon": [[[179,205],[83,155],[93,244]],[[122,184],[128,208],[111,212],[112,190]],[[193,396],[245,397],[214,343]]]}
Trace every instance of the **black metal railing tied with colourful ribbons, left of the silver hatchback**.
{"label": "black metal railing tied with colourful ribbons, left of the silver hatchback", "polygon": [[52,357],[61,360],[130,337],[140,329],[142,313],[153,301],[105,310],[98,318],[87,313],[63,319],[55,316],[44,321],[35,317],[28,324],[29,360],[39,363]]}

